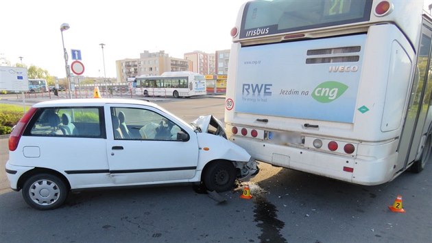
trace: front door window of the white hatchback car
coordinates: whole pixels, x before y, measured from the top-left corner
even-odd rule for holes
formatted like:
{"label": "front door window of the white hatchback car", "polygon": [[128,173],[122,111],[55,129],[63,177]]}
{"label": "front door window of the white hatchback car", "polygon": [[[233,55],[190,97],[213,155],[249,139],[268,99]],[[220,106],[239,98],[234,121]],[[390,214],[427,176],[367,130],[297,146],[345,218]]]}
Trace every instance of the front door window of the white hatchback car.
{"label": "front door window of the white hatchback car", "polygon": [[182,129],[154,111],[141,108],[111,108],[115,139],[176,141]]}

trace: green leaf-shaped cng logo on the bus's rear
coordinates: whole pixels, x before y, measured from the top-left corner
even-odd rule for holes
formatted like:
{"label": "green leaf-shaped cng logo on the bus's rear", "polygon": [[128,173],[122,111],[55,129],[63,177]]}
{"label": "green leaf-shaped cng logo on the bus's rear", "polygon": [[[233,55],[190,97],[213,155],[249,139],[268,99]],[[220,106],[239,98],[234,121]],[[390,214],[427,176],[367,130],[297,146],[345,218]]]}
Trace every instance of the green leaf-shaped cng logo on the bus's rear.
{"label": "green leaf-shaped cng logo on the bus's rear", "polygon": [[341,97],[348,89],[348,86],[336,81],[327,81],[318,85],[312,92],[312,97],[321,103],[333,102]]}

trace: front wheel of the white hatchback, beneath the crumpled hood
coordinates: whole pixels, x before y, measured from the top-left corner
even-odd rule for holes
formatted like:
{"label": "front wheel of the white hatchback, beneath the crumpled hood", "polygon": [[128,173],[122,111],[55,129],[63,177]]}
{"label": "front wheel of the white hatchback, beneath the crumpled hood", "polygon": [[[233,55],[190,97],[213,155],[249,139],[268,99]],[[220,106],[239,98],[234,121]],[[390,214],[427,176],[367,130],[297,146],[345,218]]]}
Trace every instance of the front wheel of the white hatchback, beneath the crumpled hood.
{"label": "front wheel of the white hatchback, beneath the crumpled hood", "polygon": [[214,161],[204,172],[204,185],[208,191],[226,192],[236,178],[235,167],[228,161]]}

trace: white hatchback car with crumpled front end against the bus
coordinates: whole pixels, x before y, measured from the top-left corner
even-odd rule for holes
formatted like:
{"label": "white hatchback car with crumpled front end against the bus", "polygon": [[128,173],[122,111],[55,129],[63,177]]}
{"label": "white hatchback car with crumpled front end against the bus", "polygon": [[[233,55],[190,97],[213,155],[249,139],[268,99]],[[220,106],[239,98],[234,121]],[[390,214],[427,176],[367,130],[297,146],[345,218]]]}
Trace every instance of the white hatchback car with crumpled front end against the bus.
{"label": "white hatchback car with crumpled front end against the bus", "polygon": [[12,130],[9,150],[10,186],[36,209],[95,187],[201,182],[222,192],[258,172],[214,117],[187,124],[141,100],[40,102]]}

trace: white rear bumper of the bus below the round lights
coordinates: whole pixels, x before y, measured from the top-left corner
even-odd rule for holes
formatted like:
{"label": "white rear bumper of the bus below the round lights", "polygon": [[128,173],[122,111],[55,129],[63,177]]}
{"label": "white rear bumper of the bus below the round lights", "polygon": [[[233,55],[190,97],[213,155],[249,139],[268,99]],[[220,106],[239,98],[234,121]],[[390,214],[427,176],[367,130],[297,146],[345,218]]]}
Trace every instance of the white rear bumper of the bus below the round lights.
{"label": "white rear bumper of the bus below the round lights", "polygon": [[360,185],[379,185],[391,181],[398,156],[398,153],[394,152],[380,159],[355,158],[307,148],[280,146],[244,137],[234,138],[230,141],[244,148],[257,161]]}

